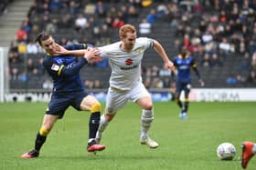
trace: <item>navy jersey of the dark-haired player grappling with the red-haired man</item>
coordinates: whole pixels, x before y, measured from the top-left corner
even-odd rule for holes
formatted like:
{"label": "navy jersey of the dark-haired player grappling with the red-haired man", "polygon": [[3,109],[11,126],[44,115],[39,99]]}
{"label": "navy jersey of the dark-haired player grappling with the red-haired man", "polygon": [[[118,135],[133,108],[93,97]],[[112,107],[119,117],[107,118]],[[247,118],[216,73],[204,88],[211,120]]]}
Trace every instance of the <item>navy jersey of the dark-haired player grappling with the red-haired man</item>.
{"label": "navy jersey of the dark-haired player grappling with the red-haired man", "polygon": [[[89,44],[72,44],[64,46],[67,50],[86,49]],[[43,65],[53,80],[53,95],[65,95],[84,91],[80,78],[80,69],[87,63],[85,58],[72,55],[46,55]]]}

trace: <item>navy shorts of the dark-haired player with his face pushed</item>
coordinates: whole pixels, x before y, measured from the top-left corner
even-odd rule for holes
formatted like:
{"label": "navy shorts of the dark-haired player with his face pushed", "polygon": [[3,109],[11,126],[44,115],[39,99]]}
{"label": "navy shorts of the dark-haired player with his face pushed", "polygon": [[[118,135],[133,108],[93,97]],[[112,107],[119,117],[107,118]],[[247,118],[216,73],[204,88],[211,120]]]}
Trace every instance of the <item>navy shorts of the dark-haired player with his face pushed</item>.
{"label": "navy shorts of the dark-haired player with his face pushed", "polygon": [[47,115],[59,115],[59,119],[63,117],[69,105],[76,110],[80,110],[80,103],[88,94],[85,92],[72,93],[69,95],[52,95],[48,103]]}

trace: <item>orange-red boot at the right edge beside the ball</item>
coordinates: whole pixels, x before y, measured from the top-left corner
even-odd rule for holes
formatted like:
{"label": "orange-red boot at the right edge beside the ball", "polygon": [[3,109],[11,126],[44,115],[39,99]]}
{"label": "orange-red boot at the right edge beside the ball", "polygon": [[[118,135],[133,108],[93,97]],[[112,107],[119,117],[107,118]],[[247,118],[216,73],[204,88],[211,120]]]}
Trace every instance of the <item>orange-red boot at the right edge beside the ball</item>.
{"label": "orange-red boot at the right edge beside the ball", "polygon": [[256,154],[256,144],[251,141],[246,141],[242,143],[241,149],[241,166],[246,169],[251,157]]}

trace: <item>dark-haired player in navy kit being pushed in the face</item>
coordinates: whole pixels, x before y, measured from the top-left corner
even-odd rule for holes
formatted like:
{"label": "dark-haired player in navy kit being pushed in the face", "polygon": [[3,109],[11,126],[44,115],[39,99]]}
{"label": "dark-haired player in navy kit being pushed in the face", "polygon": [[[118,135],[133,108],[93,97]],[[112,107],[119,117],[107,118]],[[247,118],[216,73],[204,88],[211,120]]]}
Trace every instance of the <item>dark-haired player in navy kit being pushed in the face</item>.
{"label": "dark-haired player in navy kit being pushed in the face", "polygon": [[[37,133],[35,148],[21,155],[21,157],[34,158],[39,155],[40,149],[46,142],[53,125],[58,119],[63,117],[69,105],[79,111],[91,112],[87,151],[96,152],[103,150],[105,145],[98,145],[95,141],[101,117],[101,104],[94,96],[87,95],[84,84],[80,79],[80,69],[82,66],[87,64],[87,59],[90,60],[95,55],[98,55],[99,51],[88,48],[91,46],[89,44],[72,44],[63,47],[55,43],[52,35],[48,35],[48,33],[38,34],[36,41],[47,53],[44,57],[43,65],[48,75],[51,76],[54,87],[43,123]],[[86,51],[80,50],[86,48]],[[83,55],[83,57],[80,60],[73,57],[72,50],[76,50],[78,52],[76,54]]]}

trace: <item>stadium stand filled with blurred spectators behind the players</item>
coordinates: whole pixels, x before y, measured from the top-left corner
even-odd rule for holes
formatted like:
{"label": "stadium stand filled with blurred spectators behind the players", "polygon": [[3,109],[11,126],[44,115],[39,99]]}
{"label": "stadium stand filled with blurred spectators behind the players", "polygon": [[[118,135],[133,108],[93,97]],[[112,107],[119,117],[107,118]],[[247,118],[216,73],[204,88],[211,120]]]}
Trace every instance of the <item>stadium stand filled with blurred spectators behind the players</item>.
{"label": "stadium stand filled with blurred spectators behind the players", "polygon": [[[145,20],[150,30],[139,32],[139,36],[158,40],[170,58],[186,45],[206,87],[255,87],[255,18],[256,2],[252,0],[35,0],[11,43],[10,86],[14,90],[42,89],[48,80],[40,65],[42,49],[32,41],[40,31],[53,33],[61,45],[107,45],[118,41],[121,25],[133,24],[139,30]],[[110,68],[103,62],[83,68],[88,88],[108,87]],[[143,77],[148,88],[173,85],[174,76],[162,67],[161,58],[153,50],[147,51]],[[194,77],[192,83],[199,87]]]}

